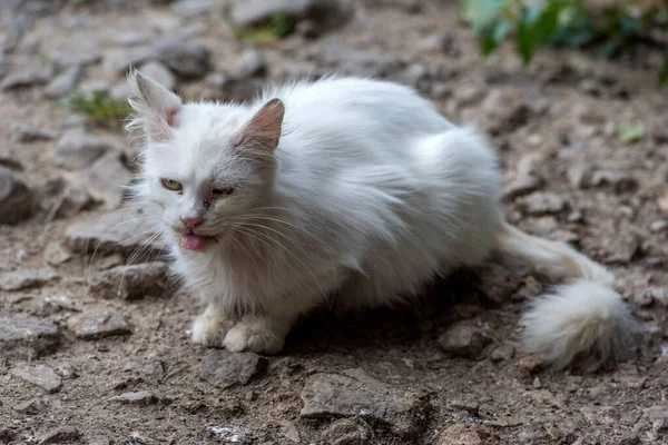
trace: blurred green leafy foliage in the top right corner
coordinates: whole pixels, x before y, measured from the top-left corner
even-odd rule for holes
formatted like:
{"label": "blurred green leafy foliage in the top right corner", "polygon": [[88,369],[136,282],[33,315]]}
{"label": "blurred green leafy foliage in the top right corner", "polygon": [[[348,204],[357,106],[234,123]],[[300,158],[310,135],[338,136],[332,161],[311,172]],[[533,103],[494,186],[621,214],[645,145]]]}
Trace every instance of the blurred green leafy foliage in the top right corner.
{"label": "blurred green leafy foliage in the top right corner", "polygon": [[642,41],[664,51],[659,85],[668,81],[668,0],[464,0],[462,14],[484,56],[511,34],[525,65],[542,46],[598,47],[613,58]]}

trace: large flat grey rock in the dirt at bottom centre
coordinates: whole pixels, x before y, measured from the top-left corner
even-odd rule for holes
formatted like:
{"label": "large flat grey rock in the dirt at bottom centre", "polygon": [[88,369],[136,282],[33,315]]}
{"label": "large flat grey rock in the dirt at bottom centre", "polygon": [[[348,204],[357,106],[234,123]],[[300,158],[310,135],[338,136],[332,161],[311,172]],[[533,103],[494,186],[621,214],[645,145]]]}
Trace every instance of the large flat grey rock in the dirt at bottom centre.
{"label": "large flat grey rock in the dirt at bottom centre", "polygon": [[347,375],[314,374],[301,397],[304,418],[353,417],[382,424],[405,438],[422,431],[428,403],[420,395],[369,377],[360,369]]}

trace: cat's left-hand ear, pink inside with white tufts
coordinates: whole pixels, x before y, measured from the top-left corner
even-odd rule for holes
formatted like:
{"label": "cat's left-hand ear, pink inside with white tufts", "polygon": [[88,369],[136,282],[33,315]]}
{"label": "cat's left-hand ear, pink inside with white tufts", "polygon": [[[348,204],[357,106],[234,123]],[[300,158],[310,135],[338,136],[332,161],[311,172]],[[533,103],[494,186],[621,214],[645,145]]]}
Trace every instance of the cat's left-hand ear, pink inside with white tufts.
{"label": "cat's left-hand ear, pink inside with white tufts", "polygon": [[132,91],[130,105],[135,109],[128,127],[143,129],[155,141],[169,140],[176,115],[183,107],[179,97],[137,70],[130,72],[128,83]]}

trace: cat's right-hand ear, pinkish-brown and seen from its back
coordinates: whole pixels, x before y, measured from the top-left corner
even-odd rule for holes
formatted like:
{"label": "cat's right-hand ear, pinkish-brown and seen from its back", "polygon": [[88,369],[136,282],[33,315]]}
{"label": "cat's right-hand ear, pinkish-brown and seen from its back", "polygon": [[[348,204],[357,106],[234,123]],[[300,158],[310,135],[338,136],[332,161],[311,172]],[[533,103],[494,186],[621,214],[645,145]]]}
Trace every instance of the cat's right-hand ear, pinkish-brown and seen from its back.
{"label": "cat's right-hand ear, pinkish-brown and seen from its back", "polygon": [[244,126],[235,139],[235,146],[271,152],[278,146],[285,107],[279,99],[266,102]]}

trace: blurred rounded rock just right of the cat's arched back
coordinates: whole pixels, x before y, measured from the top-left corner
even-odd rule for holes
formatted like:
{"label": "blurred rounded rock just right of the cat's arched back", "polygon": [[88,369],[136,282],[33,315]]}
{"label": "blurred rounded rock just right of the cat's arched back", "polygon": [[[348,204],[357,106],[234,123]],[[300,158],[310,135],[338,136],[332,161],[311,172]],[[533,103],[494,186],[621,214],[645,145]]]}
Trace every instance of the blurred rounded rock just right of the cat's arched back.
{"label": "blurred rounded rock just right of the cat's arched back", "polygon": [[531,108],[524,95],[514,88],[493,89],[481,105],[492,132],[512,132],[524,126]]}

